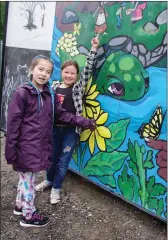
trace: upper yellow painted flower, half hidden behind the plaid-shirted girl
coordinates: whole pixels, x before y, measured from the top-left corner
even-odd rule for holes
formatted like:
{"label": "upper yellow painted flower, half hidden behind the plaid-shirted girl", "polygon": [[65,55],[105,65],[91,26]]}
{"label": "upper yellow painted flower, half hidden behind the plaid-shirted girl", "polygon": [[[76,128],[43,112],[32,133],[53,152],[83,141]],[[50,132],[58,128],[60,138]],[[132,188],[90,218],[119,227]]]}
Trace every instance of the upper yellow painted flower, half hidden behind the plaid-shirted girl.
{"label": "upper yellow painted flower, half hidden behind the plaid-shirted girl", "polygon": [[85,104],[83,104],[83,116],[93,118],[96,113],[96,108],[99,106],[99,102],[95,98],[99,95],[96,91],[96,84],[91,86],[92,78],[89,79],[86,90],[85,90]]}

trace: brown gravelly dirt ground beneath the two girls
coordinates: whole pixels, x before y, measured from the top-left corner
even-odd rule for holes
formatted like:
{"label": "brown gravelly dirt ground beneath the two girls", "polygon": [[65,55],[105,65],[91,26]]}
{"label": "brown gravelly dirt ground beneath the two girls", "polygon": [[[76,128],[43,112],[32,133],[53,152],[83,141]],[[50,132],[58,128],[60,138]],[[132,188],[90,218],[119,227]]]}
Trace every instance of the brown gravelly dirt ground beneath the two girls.
{"label": "brown gravelly dirt ground beneath the two girls", "polygon": [[[37,179],[44,178],[41,173]],[[13,215],[17,173],[4,159],[1,138],[1,240],[166,240],[167,225],[68,172],[62,201],[49,203],[50,191],[36,195],[36,206],[51,221],[45,228],[23,228]]]}

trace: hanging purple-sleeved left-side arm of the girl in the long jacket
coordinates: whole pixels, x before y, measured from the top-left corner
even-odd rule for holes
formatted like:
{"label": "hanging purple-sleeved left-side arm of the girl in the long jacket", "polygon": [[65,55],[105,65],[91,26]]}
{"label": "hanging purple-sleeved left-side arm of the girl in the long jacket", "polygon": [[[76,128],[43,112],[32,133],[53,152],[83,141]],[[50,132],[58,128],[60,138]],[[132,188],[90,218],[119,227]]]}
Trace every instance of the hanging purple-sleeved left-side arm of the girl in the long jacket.
{"label": "hanging purple-sleeved left-side arm of the girl in the long jacket", "polygon": [[17,157],[17,143],[25,109],[25,93],[20,89],[12,96],[8,107],[7,134],[5,144],[5,158],[12,164]]}

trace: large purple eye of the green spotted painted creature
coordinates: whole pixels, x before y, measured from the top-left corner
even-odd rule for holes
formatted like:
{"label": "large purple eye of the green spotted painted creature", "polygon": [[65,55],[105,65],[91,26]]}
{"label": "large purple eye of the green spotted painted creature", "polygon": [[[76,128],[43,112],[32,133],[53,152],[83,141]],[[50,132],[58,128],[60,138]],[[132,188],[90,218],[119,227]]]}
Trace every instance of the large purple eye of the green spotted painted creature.
{"label": "large purple eye of the green spotted painted creature", "polygon": [[124,85],[118,79],[110,79],[110,85],[108,87],[108,91],[111,95],[115,97],[121,97],[125,94]]}

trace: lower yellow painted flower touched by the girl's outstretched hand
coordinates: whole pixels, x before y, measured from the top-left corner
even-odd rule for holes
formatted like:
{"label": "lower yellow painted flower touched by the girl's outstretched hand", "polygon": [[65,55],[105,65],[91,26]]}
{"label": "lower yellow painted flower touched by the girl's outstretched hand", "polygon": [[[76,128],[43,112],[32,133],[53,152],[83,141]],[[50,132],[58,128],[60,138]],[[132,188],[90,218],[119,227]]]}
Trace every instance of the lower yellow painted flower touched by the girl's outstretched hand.
{"label": "lower yellow painted flower touched by the girl's outstretched hand", "polygon": [[95,142],[101,151],[106,150],[106,138],[111,138],[110,130],[103,126],[108,118],[108,113],[103,112],[100,106],[96,108],[96,113],[93,114],[93,118],[96,121],[96,129],[91,131],[90,129],[84,130],[80,135],[80,141],[85,142],[88,140],[90,152],[93,154],[95,149]]}

